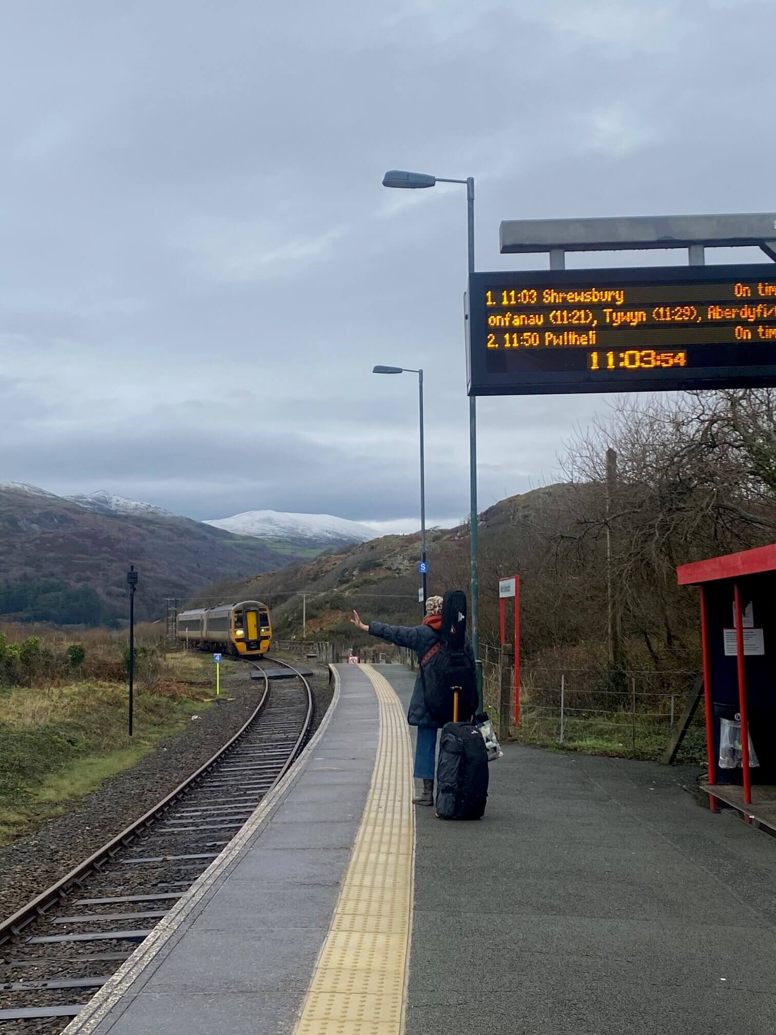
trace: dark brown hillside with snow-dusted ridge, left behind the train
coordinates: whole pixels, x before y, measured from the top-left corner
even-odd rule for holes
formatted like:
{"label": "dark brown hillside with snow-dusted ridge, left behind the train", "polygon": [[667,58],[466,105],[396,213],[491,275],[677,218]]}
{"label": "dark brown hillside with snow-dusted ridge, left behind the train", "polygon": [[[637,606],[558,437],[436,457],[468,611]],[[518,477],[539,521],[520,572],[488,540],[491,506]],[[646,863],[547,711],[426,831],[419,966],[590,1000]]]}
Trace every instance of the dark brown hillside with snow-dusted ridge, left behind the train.
{"label": "dark brown hillside with snow-dusted ridge, left behind the train", "polygon": [[147,505],[106,504],[92,499],[87,507],[33,485],[0,484],[0,613],[63,623],[123,618],[131,563],[140,571],[138,617],[157,618],[167,596],[282,563],[259,539]]}

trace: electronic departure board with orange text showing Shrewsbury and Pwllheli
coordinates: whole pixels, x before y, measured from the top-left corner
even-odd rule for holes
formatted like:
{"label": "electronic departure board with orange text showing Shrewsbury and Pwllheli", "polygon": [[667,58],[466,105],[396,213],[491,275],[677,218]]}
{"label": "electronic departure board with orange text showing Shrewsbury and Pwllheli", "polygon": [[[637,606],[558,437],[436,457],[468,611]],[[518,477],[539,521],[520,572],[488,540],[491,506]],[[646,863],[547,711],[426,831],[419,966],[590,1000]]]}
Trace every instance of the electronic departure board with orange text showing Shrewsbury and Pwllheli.
{"label": "electronic departure board with orange text showing Shrewsbury and Pwllheli", "polygon": [[470,395],[776,385],[776,264],[473,273]]}

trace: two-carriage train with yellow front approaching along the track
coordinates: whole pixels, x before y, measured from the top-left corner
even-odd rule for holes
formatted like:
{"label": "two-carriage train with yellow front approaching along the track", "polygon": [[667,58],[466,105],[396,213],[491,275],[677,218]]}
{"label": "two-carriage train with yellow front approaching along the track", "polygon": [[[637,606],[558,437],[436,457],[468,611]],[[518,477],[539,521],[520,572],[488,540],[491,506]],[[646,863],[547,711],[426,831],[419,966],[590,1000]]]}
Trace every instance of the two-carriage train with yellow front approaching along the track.
{"label": "two-carriage train with yellow front approaching along the track", "polygon": [[181,611],[176,637],[202,650],[262,657],[272,641],[272,619],[267,604],[258,600]]}

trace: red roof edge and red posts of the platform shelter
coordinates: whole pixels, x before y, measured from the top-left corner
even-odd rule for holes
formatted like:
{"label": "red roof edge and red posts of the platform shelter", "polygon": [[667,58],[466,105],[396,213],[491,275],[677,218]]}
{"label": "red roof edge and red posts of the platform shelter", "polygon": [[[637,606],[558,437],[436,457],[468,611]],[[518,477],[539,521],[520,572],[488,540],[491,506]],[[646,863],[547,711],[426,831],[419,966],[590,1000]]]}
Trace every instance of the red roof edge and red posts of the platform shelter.
{"label": "red roof edge and red posts of the platform shelter", "polygon": [[714,759],[714,729],[712,701],[712,666],[709,649],[709,618],[707,608],[706,585],[711,582],[732,582],[734,592],[734,611],[736,622],[736,655],[739,691],[739,713],[741,715],[741,768],[744,783],[744,803],[751,804],[751,774],[749,769],[749,718],[746,699],[746,661],[744,657],[744,621],[742,615],[740,580],[747,575],[762,574],[766,571],[776,571],[776,545],[757,546],[755,550],[745,550],[739,554],[726,554],[723,557],[712,557],[708,561],[696,561],[692,564],[681,564],[677,568],[677,582],[680,586],[698,586],[700,588],[700,645],[704,659],[704,701],[706,707],[706,746],[709,761],[709,783],[716,783],[716,765]]}

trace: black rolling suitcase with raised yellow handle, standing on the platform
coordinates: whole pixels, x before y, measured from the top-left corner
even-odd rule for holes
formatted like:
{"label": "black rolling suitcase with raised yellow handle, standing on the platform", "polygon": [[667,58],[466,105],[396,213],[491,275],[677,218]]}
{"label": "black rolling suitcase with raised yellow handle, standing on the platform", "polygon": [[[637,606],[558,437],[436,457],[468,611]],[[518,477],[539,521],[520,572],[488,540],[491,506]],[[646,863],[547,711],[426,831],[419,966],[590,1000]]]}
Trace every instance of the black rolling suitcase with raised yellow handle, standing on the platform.
{"label": "black rolling suitcase with raised yellow handle, standing on the platform", "polygon": [[474,722],[458,722],[458,692],[453,721],[442,727],[437,763],[437,816],[441,820],[480,820],[487,801],[487,748]]}

